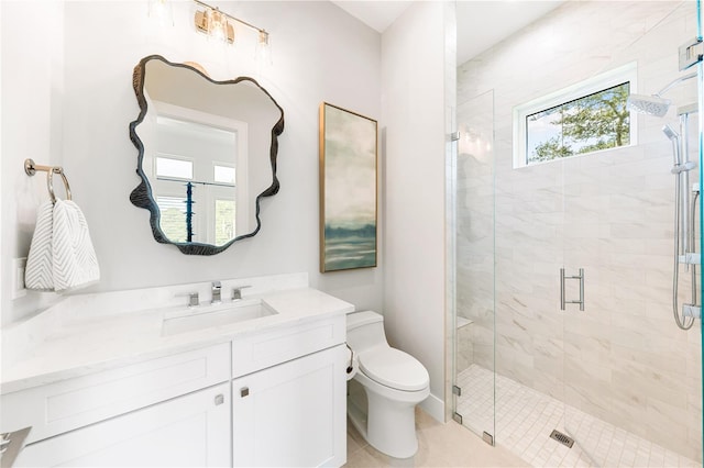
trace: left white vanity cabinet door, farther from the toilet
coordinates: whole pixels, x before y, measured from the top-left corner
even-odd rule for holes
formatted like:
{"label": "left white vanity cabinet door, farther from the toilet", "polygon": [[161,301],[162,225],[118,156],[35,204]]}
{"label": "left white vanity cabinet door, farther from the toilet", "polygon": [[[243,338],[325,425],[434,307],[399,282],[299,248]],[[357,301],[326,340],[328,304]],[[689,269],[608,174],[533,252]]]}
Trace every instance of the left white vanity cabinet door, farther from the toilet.
{"label": "left white vanity cabinet door, farther from the toilet", "polygon": [[200,390],[28,445],[16,466],[230,465],[230,386]]}

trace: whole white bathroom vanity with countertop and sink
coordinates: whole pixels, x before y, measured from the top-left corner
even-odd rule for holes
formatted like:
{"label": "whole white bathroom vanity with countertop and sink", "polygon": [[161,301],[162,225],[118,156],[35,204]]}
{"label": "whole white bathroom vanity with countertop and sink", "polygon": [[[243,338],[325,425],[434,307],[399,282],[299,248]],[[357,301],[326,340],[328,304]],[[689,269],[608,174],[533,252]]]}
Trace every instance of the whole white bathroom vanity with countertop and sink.
{"label": "whole white bathroom vanity with countertop and sink", "polygon": [[306,274],[209,288],[67,297],[3,330],[0,432],[32,427],[15,466],[343,465],[353,305]]}

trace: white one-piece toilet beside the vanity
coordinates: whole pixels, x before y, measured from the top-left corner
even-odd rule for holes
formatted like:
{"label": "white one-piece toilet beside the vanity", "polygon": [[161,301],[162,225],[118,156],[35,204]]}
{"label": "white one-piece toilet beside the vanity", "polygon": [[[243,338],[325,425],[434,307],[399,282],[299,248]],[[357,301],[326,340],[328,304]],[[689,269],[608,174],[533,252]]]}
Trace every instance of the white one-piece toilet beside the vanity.
{"label": "white one-piece toilet beside the vanity", "polygon": [[348,416],[364,439],[395,458],[418,450],[416,404],[430,394],[428,370],[386,342],[384,317],[373,311],[346,316],[348,345],[359,369],[350,381]]}

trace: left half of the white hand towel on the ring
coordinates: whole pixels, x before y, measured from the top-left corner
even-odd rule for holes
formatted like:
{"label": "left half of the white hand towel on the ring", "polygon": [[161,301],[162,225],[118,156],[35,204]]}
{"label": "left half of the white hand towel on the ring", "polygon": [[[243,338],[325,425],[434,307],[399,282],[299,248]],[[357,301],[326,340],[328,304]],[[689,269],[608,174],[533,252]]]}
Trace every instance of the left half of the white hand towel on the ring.
{"label": "left half of the white hand towel on the ring", "polygon": [[54,227],[54,204],[51,201],[40,205],[36,212],[36,227],[30,244],[30,254],[24,270],[24,286],[37,291],[54,290],[54,261],[52,256],[52,231]]}

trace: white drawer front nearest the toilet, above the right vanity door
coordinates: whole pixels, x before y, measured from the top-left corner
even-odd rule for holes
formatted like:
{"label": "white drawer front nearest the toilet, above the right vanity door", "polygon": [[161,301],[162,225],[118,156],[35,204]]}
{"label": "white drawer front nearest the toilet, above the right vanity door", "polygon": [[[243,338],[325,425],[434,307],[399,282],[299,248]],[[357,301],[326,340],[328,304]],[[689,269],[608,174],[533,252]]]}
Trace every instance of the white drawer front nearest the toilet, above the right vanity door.
{"label": "white drawer front nearest the toilet, above the right vanity door", "polygon": [[342,344],[345,334],[345,316],[338,315],[235,338],[232,341],[232,377]]}

